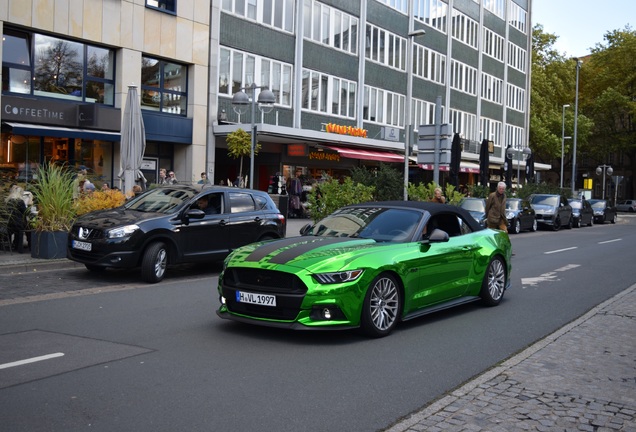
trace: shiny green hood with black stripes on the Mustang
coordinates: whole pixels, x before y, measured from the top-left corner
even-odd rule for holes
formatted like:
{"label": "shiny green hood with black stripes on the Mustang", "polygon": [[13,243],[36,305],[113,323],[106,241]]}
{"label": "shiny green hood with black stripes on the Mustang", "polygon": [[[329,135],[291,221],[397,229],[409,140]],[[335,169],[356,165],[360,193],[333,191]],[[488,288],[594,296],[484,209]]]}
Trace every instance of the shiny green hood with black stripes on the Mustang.
{"label": "shiny green hood with black stripes on the Mustang", "polygon": [[[387,243],[388,245],[395,243]],[[309,268],[329,265],[333,261],[347,262],[358,257],[360,251],[377,246],[375,240],[342,237],[291,237],[266,243],[254,243],[238,249],[231,255],[245,263],[288,265]]]}

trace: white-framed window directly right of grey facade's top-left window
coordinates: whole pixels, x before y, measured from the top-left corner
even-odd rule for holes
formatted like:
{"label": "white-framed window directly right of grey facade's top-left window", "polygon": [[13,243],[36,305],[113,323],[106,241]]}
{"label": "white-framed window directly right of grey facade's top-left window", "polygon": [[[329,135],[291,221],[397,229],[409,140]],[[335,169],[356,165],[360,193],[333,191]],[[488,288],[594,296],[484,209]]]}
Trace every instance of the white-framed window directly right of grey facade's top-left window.
{"label": "white-framed window directly right of grey facade's top-left window", "polygon": [[316,0],[304,0],[306,39],[350,54],[358,53],[358,19]]}

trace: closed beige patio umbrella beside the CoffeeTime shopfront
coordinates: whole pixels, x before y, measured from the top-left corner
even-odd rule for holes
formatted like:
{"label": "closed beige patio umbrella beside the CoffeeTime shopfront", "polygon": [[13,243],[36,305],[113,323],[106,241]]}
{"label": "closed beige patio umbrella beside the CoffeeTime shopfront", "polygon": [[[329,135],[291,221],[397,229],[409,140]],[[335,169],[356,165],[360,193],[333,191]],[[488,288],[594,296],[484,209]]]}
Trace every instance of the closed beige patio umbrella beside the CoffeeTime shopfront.
{"label": "closed beige patio umbrella beside the CoffeeTime shopfront", "polygon": [[128,86],[128,95],[121,120],[121,170],[118,177],[124,180],[122,191],[132,190],[135,182],[141,180],[142,187],[146,178],[141,172],[141,162],[146,151],[146,130],[141,116],[141,106],[137,86]]}

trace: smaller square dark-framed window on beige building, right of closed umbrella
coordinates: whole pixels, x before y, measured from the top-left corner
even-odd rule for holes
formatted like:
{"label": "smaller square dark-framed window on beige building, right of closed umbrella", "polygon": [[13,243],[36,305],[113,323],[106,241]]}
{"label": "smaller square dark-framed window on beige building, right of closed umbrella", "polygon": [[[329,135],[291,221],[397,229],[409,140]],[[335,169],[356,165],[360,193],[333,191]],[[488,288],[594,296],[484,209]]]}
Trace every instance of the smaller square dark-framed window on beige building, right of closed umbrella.
{"label": "smaller square dark-framed window on beige building, right of closed umbrella", "polygon": [[141,58],[141,108],[186,115],[188,67],[152,57]]}

